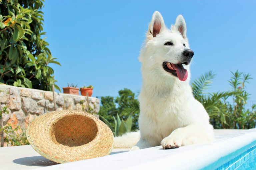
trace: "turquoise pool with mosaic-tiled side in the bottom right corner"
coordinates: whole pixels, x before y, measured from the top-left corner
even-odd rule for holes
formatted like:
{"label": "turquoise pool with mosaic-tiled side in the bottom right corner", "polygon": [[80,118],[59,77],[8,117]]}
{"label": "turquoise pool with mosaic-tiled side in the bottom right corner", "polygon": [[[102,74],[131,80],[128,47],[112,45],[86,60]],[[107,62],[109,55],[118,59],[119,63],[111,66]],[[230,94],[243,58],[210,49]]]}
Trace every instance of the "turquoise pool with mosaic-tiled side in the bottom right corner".
{"label": "turquoise pool with mosaic-tiled side in the bottom right corner", "polygon": [[256,141],[220,158],[202,170],[256,170]]}

